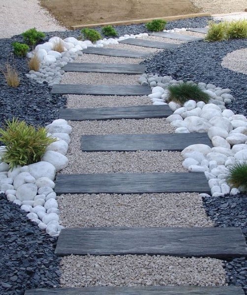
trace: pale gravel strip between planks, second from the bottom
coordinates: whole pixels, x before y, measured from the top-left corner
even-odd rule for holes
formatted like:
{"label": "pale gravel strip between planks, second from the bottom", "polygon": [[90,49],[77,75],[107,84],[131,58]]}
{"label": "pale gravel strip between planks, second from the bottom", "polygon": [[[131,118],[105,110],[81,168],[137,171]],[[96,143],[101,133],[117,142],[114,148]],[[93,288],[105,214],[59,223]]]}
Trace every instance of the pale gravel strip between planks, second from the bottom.
{"label": "pale gravel strip between planks, second from the bottom", "polygon": [[64,194],[58,203],[66,228],[214,226],[197,193]]}

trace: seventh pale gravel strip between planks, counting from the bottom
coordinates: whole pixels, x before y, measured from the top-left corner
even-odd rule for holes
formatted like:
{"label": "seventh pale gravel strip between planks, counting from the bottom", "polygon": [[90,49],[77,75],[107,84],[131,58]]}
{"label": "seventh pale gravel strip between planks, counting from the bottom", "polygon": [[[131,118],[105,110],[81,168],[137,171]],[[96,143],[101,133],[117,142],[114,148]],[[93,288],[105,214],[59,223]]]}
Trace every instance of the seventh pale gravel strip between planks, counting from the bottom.
{"label": "seventh pale gravel strip between planks, counting from the bottom", "polygon": [[140,63],[144,59],[110,57],[96,54],[83,54],[76,59],[76,62],[102,62],[102,63]]}

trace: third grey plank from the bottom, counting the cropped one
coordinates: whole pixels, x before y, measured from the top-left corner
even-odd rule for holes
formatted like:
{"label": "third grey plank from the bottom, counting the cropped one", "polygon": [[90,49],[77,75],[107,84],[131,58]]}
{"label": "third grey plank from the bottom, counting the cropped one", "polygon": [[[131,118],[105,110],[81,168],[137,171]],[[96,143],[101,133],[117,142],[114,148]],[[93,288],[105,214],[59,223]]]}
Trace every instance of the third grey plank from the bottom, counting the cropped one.
{"label": "third grey plank from the bottom, counting the cropped one", "polygon": [[58,174],[57,194],[210,193],[204,173]]}

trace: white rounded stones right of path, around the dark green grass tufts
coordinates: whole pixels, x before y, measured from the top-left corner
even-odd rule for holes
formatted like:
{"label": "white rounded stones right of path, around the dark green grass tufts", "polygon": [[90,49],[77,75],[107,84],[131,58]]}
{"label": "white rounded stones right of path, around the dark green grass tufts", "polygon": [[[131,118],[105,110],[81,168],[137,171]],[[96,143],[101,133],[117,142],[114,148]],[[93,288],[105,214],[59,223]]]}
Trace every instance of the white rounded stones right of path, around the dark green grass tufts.
{"label": "white rounded stones right of path, around the dark green grass tufts", "polygon": [[231,189],[226,178],[229,175],[229,166],[247,161],[247,118],[235,115],[225,108],[224,104],[233,99],[229,94],[231,90],[198,83],[210,95],[210,102],[196,102],[191,97],[181,106],[175,102],[166,102],[167,87],[183,81],[173,80],[170,76],[144,74],[139,82],[151,86],[152,94],[149,97],[154,105],[168,104],[172,109],[173,115],[167,120],[177,128],[175,133],[207,132],[211,139],[213,148],[203,144],[185,148],[182,151],[185,158],[183,166],[189,172],[204,172],[214,197],[239,193],[241,187]]}

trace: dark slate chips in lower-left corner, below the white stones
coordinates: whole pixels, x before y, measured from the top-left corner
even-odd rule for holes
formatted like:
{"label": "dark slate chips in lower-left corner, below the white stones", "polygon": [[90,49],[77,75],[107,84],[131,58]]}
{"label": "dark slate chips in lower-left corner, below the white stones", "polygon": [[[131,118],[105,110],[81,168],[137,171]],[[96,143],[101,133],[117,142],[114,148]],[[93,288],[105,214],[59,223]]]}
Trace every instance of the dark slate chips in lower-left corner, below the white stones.
{"label": "dark slate chips in lower-left corner, below the white stones", "polygon": [[59,287],[56,238],[43,233],[19,206],[0,194],[0,295]]}

